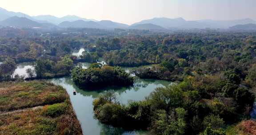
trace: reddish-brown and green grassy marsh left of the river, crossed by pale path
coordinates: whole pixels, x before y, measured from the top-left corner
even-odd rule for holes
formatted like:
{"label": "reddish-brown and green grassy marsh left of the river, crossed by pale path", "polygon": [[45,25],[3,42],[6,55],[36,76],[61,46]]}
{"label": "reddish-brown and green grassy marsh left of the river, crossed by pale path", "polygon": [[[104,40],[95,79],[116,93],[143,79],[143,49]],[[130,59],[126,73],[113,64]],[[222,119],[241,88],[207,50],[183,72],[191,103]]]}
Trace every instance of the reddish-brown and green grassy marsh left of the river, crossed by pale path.
{"label": "reddish-brown and green grassy marsh left of the river, crossed by pale path", "polygon": [[82,135],[63,87],[45,81],[0,83],[0,135]]}

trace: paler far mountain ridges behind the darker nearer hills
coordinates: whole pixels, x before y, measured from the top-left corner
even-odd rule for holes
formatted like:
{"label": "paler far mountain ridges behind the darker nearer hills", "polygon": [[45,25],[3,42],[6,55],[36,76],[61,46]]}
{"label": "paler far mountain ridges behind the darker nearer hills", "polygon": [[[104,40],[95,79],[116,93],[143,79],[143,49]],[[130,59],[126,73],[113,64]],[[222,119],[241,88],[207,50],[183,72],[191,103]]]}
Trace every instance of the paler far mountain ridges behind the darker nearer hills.
{"label": "paler far mountain ridges behind the darker nearer hills", "polygon": [[[41,24],[48,25],[49,23],[52,23],[64,28],[67,28],[67,27],[104,28],[104,29],[129,28],[129,27],[132,28],[133,26],[138,24],[145,24],[144,26],[139,25],[140,27],[145,27],[145,28],[147,28],[146,25],[149,26],[149,24],[151,24],[153,28],[154,27],[157,27],[157,28],[160,28],[160,27],[162,28],[229,28],[238,24],[241,24],[241,25],[256,24],[256,21],[250,18],[237,19],[237,20],[185,20],[182,17],[173,18],[173,19],[167,18],[167,17],[156,17],[148,20],[141,20],[140,22],[134,23],[132,25],[127,25],[127,24],[113,22],[111,20],[97,21],[93,19],[85,19],[75,15],[67,15],[63,17],[56,17],[52,15],[29,16],[21,12],[10,12],[4,8],[0,8],[0,21],[4,21],[13,16],[25,17],[25,18],[28,18],[29,20],[36,21]],[[77,21],[77,20],[83,20],[83,22]],[[72,26],[72,23],[74,23],[74,26]]]}

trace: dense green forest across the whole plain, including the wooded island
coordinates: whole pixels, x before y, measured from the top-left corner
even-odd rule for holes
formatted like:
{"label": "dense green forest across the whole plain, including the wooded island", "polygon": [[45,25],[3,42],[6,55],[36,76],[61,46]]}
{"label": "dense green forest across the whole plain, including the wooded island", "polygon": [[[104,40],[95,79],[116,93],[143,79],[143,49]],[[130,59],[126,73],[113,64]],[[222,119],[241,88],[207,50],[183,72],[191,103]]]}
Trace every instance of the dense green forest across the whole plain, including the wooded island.
{"label": "dense green forest across the whole plain, including the wooded island", "polygon": [[[74,50],[86,48],[81,56]],[[96,63],[88,69],[78,62]],[[256,92],[255,32],[173,32],[0,38],[0,81],[19,80],[16,64],[34,62],[29,79],[72,75],[85,86],[132,85],[134,77],[175,81],[122,105],[114,91],[93,103],[100,122],[156,135],[253,135],[246,125]],[[245,127],[243,127],[245,125]],[[252,126],[253,127],[253,126]]]}

